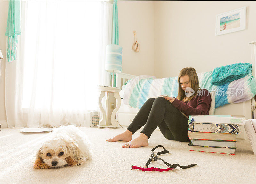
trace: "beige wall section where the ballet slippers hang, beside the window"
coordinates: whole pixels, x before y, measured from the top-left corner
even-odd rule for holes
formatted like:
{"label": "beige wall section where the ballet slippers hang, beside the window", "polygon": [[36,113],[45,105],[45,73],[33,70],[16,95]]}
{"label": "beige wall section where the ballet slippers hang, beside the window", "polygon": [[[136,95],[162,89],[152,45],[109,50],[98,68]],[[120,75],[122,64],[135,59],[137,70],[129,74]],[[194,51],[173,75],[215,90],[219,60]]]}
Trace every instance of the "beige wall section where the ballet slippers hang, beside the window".
{"label": "beige wall section where the ballet slippers hang, beside the window", "polygon": [[[119,45],[123,47],[122,72],[132,75],[154,75],[154,2],[117,1]],[[140,51],[132,50],[133,31],[137,33]]]}

